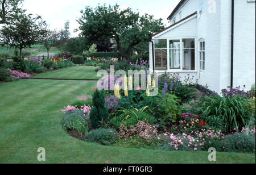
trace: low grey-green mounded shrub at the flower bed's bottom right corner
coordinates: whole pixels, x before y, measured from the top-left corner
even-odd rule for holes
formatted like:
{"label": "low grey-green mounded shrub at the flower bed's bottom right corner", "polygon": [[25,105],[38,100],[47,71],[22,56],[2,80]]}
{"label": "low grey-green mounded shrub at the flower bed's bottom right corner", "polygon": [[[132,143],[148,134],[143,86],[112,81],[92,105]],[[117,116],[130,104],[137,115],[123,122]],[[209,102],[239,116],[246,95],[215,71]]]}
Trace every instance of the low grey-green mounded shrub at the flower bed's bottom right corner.
{"label": "low grey-green mounded shrub at the flower bed's bottom right corner", "polygon": [[255,137],[243,133],[235,133],[225,136],[222,141],[225,152],[255,153]]}

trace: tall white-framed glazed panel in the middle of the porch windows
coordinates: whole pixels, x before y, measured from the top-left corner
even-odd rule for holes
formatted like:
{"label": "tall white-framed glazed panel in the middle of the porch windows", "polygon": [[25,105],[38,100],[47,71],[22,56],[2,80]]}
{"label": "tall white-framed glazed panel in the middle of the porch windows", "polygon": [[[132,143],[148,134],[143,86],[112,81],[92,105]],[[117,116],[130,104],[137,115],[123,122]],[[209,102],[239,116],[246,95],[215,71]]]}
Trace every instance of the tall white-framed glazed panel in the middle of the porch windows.
{"label": "tall white-framed glazed panel in the middle of the porch windows", "polygon": [[180,69],[180,40],[170,40],[170,69]]}

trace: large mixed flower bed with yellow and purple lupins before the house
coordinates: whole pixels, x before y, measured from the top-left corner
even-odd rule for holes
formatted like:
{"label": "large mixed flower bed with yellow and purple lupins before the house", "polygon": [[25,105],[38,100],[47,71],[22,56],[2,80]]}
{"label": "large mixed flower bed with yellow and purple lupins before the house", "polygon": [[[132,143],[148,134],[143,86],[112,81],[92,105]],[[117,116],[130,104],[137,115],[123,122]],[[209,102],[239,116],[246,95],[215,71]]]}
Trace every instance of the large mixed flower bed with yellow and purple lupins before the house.
{"label": "large mixed flower bed with yellow and purple lupins before the house", "polygon": [[[122,62],[112,65],[126,68]],[[179,74],[165,73],[158,77],[158,94],[151,96],[156,82],[147,62],[129,66],[146,68],[146,75],[139,77],[139,82],[146,78],[146,90],[133,86],[133,76],[102,78],[102,84],[88,94],[92,99],[83,102],[92,103],[85,124],[89,126],[84,133],[86,141],[168,151],[208,151],[213,147],[217,151],[255,153],[255,90],[223,90],[222,96],[196,97],[194,77],[188,75],[181,81]],[[102,87],[104,90],[98,90]],[[191,103],[192,99],[197,102]],[[192,107],[184,107],[184,103]],[[118,139],[110,137],[110,131],[117,132]]]}

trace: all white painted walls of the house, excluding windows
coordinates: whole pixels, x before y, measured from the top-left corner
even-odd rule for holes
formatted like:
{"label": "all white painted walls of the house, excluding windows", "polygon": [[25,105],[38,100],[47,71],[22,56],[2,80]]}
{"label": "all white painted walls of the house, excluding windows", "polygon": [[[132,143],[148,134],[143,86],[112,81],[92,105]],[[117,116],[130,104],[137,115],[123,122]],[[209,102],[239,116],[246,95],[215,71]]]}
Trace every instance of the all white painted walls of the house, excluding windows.
{"label": "all white painted walls of the house, excluding windows", "polygon": [[[222,89],[230,86],[232,1],[214,1],[216,11],[209,11],[212,7],[210,2],[213,1],[205,0],[204,14],[198,13],[196,18],[172,28],[159,38],[195,36],[197,45],[199,45],[198,40],[204,38],[205,70],[194,74],[200,78],[199,84],[207,84],[210,90],[220,93]],[[183,18],[199,11],[199,1],[187,1],[171,20],[174,17],[179,19],[180,11],[183,13]],[[246,85],[247,89],[250,89],[255,83],[255,2],[235,0],[234,21],[234,87]],[[196,64],[199,69],[199,48],[196,52],[196,60],[198,60]],[[184,76],[187,73],[181,74]]]}

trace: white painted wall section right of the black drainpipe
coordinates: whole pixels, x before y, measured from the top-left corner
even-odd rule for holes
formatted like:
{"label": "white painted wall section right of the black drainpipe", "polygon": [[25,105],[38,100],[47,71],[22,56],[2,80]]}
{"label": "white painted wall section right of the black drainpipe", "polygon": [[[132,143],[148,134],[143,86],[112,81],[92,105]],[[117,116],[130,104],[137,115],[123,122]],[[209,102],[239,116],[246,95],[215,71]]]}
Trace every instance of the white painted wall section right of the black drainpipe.
{"label": "white painted wall section right of the black drainpipe", "polygon": [[255,83],[255,2],[235,1],[234,86]]}

